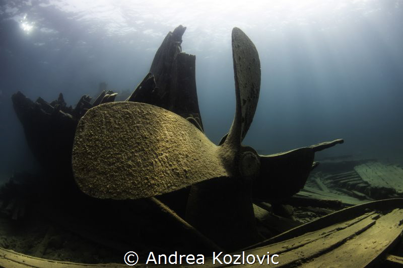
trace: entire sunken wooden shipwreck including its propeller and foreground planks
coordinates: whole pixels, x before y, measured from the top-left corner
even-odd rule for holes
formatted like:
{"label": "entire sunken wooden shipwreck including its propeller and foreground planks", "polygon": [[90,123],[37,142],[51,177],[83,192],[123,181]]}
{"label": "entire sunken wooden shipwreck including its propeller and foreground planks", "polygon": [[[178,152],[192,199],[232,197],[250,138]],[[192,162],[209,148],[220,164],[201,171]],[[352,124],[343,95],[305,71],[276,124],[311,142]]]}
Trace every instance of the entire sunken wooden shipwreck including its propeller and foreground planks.
{"label": "entire sunken wooden shipwreck including its propeller and foreground planks", "polygon": [[[141,264],[149,251],[176,250],[209,252],[203,267],[231,265],[213,263],[212,251],[270,251],[279,254],[277,266],[284,267],[399,263],[400,257],[389,252],[403,228],[403,199],[367,203],[375,196],[366,195],[370,182],[362,182],[365,171],[360,166],[354,171],[360,176],[350,170],[318,176],[306,185],[318,165],[315,152],[342,139],[273,155],[259,155],[241,144],[257,106],[260,62],[252,41],[238,28],[232,32],[234,121],[219,145],[206,137],[195,57],[180,46],[185,29],[168,33],[150,72],[125,102],[114,102],[116,94],[103,92],[94,101],[83,96],[73,109],[62,95],[50,104],[42,99],[34,103],[22,93],[13,96],[29,146],[45,170],[41,186],[46,194],[33,211],[97,245],[112,247],[121,254],[117,259],[136,247],[136,266],[153,266]],[[55,181],[60,170],[63,184]],[[339,194],[327,191],[334,184],[364,198],[340,202]],[[13,204],[21,202],[11,200],[3,206],[18,210]],[[287,204],[326,216],[301,224]],[[141,232],[130,233],[133,229]],[[44,259],[54,232],[53,227],[46,231],[36,257],[0,248],[0,265],[126,266],[113,259],[109,264]]]}

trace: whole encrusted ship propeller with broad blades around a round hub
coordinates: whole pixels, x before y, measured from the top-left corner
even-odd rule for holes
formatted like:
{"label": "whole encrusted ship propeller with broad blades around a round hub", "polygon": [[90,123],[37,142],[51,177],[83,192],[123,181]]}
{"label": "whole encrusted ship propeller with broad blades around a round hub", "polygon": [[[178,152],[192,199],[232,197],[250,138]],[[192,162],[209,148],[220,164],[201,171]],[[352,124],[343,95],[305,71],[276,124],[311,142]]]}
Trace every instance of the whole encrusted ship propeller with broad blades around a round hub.
{"label": "whole encrusted ship propeller with broad blades around a round hub", "polygon": [[[165,109],[136,102],[102,104],[90,109],[76,130],[72,164],[80,189],[96,198],[139,199],[194,185],[186,216],[191,224],[230,250],[256,242],[252,197],[294,195],[315,165],[314,153],[343,140],[274,155],[242,146],[258,102],[260,61],[238,28],[232,31],[232,53],[236,111],[219,146]],[[226,204],[225,212],[209,207],[216,201]]]}

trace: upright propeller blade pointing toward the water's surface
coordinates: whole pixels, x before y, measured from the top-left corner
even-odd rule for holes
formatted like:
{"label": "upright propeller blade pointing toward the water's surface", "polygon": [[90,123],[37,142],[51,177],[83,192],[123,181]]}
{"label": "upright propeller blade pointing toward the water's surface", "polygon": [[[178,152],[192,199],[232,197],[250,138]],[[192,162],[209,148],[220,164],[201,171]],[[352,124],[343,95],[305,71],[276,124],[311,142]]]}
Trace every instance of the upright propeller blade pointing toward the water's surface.
{"label": "upright propeller blade pointing toward the water's surface", "polygon": [[236,110],[226,143],[240,146],[256,111],[260,92],[260,60],[256,47],[239,28],[232,30]]}

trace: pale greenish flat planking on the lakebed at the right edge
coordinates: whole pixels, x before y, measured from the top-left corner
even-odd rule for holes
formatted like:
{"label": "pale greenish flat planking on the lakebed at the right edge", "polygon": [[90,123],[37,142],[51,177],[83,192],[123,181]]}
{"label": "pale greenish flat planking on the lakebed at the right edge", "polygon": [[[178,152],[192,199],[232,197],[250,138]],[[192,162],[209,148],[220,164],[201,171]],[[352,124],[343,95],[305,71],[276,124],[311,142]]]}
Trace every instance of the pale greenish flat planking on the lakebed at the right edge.
{"label": "pale greenish flat planking on the lakebed at the right edge", "polygon": [[403,168],[397,165],[368,162],[354,169],[372,187],[392,188],[398,194],[403,193]]}

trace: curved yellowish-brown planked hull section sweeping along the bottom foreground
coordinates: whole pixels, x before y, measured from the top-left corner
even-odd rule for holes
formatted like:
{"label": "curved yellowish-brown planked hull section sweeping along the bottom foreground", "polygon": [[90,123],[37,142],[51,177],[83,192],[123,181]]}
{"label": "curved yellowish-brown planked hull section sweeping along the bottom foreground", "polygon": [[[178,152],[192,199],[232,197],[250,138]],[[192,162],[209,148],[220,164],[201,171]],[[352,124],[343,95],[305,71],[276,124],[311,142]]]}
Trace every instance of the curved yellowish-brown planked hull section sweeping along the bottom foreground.
{"label": "curved yellowish-brown planked hull section sweeping along the bottom foreground", "polygon": [[[385,232],[387,230],[387,232]],[[276,267],[367,267],[382,261],[398,262],[401,258],[388,255],[388,251],[400,239],[403,231],[403,199],[374,201],[350,207],[310,223],[291,229],[283,234],[255,244],[235,254],[245,256],[278,254],[274,260]],[[4,267],[123,267],[120,263],[82,264],[74,262],[53,261],[31,257],[12,250],[0,248],[0,265]],[[216,252],[218,255],[219,252]],[[222,254],[224,256],[224,254]],[[259,265],[257,257],[254,265]],[[227,262],[229,258],[225,259]],[[150,265],[151,264],[151,265]],[[153,267],[154,263],[148,266]],[[187,266],[170,265],[172,267]],[[245,263],[223,262],[223,258],[207,257],[202,267],[245,266]],[[138,264],[143,267],[146,264]],[[197,266],[197,265],[192,265]],[[253,265],[252,265],[253,266]]]}

